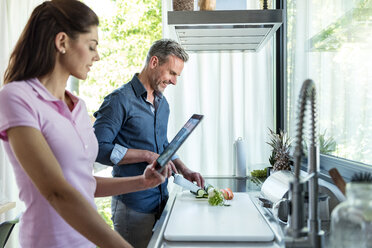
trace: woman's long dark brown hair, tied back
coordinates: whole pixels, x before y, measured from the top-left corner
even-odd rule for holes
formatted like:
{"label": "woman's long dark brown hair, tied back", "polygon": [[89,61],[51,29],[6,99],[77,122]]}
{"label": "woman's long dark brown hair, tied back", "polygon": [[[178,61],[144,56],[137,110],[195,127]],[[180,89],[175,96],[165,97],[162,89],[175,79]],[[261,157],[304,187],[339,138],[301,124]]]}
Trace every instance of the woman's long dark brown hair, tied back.
{"label": "woman's long dark brown hair, tied back", "polygon": [[48,74],[56,62],[54,40],[59,32],[71,39],[98,26],[97,15],[78,0],[52,0],[37,6],[31,14],[4,74],[4,84]]}

